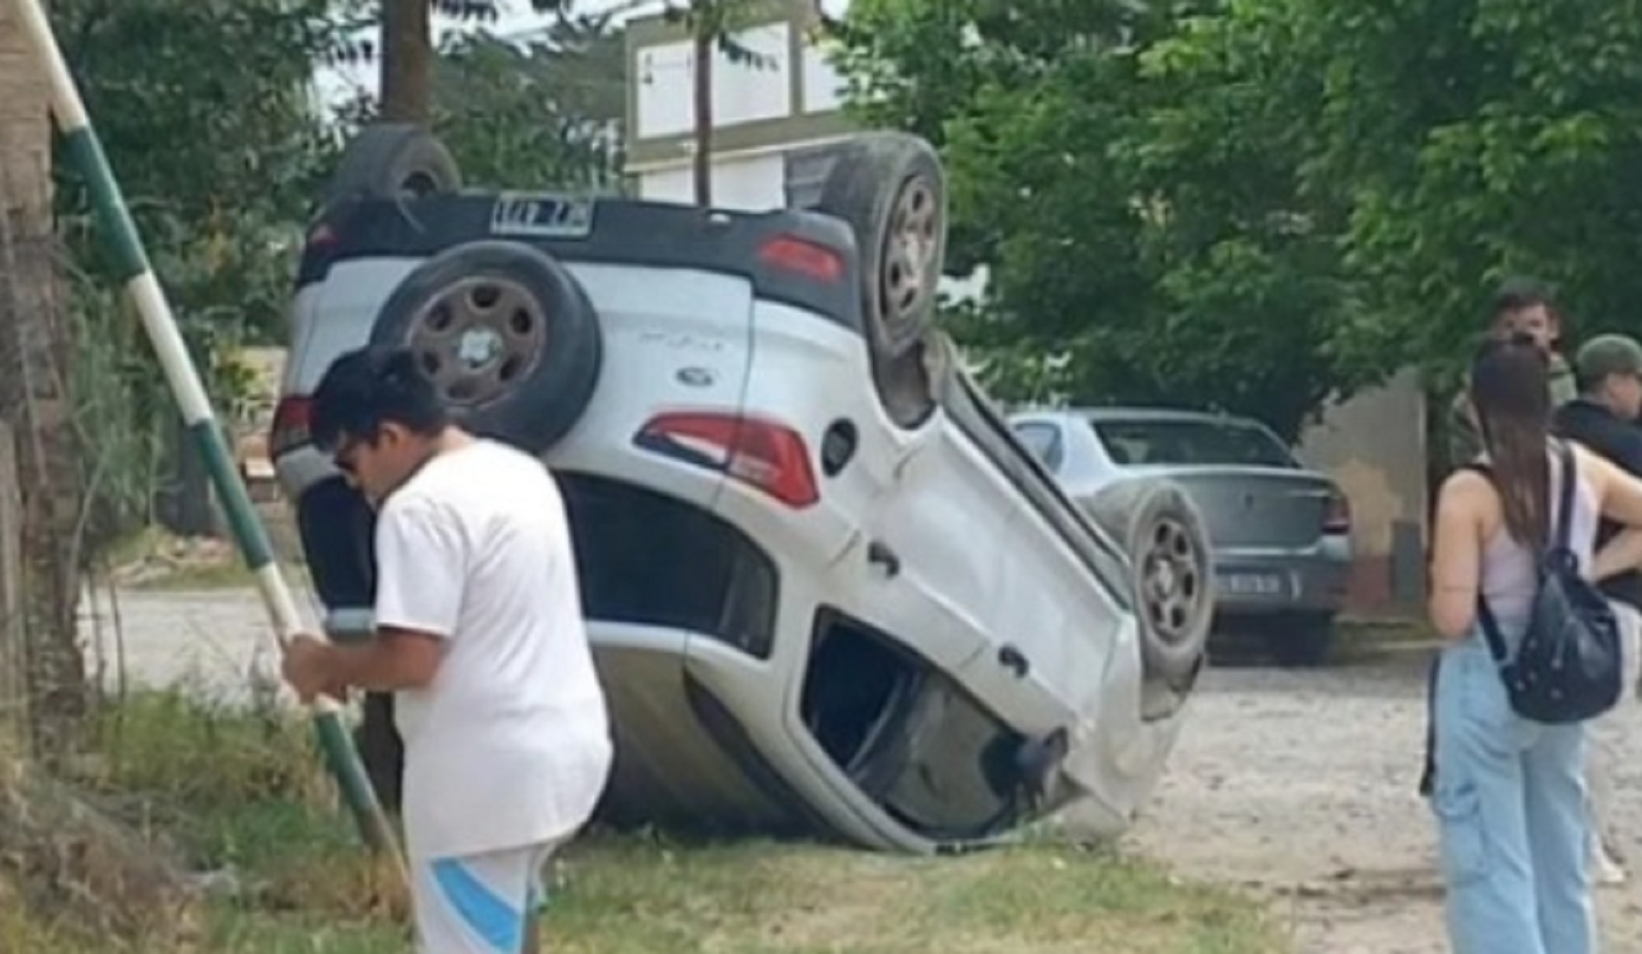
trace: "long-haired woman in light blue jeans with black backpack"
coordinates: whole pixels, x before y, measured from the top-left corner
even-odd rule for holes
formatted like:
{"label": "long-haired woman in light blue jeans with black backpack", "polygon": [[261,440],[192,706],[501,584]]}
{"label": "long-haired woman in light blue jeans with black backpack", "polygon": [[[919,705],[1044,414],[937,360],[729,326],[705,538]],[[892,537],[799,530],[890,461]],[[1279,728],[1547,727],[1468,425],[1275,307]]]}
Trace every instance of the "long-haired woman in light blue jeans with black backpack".
{"label": "long-haired woman in light blue jeans with black backpack", "polygon": [[[1481,455],[1443,481],[1432,539],[1448,934],[1456,954],[1591,954],[1585,722],[1622,678],[1617,624],[1581,573],[1599,516],[1642,527],[1642,481],[1552,438],[1547,360],[1525,338],[1481,346],[1470,402]],[[1568,563],[1547,558],[1563,548]]]}

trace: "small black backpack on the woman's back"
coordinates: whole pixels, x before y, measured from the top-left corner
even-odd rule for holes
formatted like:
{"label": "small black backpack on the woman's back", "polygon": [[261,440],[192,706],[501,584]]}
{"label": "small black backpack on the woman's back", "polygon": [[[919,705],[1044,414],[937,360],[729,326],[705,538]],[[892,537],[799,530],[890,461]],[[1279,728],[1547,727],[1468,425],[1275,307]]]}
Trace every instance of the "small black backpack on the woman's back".
{"label": "small black backpack on the woman's back", "polygon": [[[1548,726],[1583,722],[1614,708],[1624,690],[1619,619],[1594,583],[1580,575],[1580,562],[1568,548],[1573,517],[1573,488],[1578,483],[1573,450],[1558,445],[1562,493],[1552,542],[1539,555],[1539,589],[1529,608],[1529,624],[1507,658],[1488,599],[1476,596],[1476,617],[1488,639],[1488,652],[1499,663],[1511,708],[1524,719]],[[1484,463],[1466,465],[1493,478]]]}

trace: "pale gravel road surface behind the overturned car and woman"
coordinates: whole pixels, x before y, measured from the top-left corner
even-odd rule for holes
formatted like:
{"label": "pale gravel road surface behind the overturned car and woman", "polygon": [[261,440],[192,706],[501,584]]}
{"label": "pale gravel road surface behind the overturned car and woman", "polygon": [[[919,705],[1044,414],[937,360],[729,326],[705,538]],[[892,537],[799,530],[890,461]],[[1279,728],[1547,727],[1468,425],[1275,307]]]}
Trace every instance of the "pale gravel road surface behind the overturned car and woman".
{"label": "pale gravel road surface behind the overturned car and woman", "polygon": [[[125,593],[126,672],[243,696],[266,644],[251,591]],[[113,670],[110,606],[102,645]],[[266,652],[266,650],[264,650]],[[1210,670],[1131,842],[1186,875],[1273,897],[1297,954],[1442,954],[1433,826],[1414,785],[1424,654],[1320,672]],[[1601,727],[1622,849],[1642,869],[1642,708]],[[1642,874],[1642,872],[1639,872]],[[1601,892],[1608,954],[1642,954],[1642,878]]]}

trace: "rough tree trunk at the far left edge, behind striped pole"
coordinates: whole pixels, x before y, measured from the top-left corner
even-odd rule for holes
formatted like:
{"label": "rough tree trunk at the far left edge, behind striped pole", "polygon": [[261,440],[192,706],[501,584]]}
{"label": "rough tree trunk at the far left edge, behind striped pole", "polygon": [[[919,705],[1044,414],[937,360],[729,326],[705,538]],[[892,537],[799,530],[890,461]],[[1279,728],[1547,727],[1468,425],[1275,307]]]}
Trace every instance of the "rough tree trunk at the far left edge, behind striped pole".
{"label": "rough tree trunk at the far left edge, behind striped pole", "polygon": [[79,608],[79,448],[71,327],[51,215],[49,90],[0,5],[0,419],[16,432],[33,744],[72,752],[87,711]]}

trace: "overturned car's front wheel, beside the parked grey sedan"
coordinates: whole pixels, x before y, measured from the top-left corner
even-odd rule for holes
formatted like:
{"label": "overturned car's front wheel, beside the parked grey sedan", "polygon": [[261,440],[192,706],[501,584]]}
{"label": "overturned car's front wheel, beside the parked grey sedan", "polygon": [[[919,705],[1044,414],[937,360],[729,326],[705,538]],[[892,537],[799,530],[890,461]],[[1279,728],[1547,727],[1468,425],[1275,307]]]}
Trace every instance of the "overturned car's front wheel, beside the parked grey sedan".
{"label": "overturned car's front wheel, beside the parked grey sedan", "polygon": [[1215,614],[1202,512],[1179,484],[1146,478],[1103,488],[1089,509],[1128,550],[1146,678],[1190,685]]}

